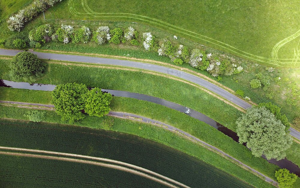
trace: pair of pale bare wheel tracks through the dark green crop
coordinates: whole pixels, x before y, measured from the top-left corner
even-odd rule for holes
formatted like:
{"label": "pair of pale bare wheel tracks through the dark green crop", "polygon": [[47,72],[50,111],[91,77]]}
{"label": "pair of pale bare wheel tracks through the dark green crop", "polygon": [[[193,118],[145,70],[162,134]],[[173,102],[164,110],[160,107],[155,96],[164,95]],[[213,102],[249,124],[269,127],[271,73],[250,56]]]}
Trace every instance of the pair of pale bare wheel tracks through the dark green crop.
{"label": "pair of pale bare wheel tracks through the dark green crop", "polygon": [[[158,183],[162,183],[166,186],[172,187],[172,188],[180,188],[180,187],[184,187],[184,188],[190,188],[189,186],[186,186],[182,183],[179,183],[175,180],[172,180],[168,177],[165,177],[161,174],[155,173],[153,171],[147,170],[145,168],[141,168],[135,165],[131,165],[128,163],[124,163],[124,162],[120,162],[120,161],[115,161],[115,160],[111,160],[111,159],[105,159],[105,158],[99,158],[99,157],[91,157],[91,156],[83,156],[83,155],[77,155],[77,154],[71,154],[71,153],[60,153],[60,152],[51,152],[51,151],[45,151],[45,150],[36,150],[36,149],[25,149],[25,148],[13,148],[13,147],[3,147],[0,146],[0,149],[7,149],[7,150],[13,150],[13,151],[23,151],[23,152],[35,152],[35,153],[45,153],[45,154],[52,154],[52,155],[60,155],[60,156],[69,156],[69,157],[79,157],[79,158],[84,158],[84,159],[92,159],[92,160],[98,160],[98,161],[102,161],[102,162],[95,162],[95,161],[88,161],[88,160],[82,160],[82,159],[73,159],[73,158],[67,158],[67,157],[56,157],[56,156],[45,156],[45,155],[37,155],[37,154],[27,154],[27,153],[13,153],[13,152],[0,152],[0,154],[3,155],[11,155],[11,156],[25,156],[25,157],[34,157],[34,158],[40,158],[40,159],[52,159],[52,160],[60,160],[60,161],[68,161],[68,162],[78,162],[78,163],[84,163],[84,164],[90,164],[90,165],[98,165],[98,166],[102,166],[102,167],[107,167],[107,168],[114,168],[117,170],[122,170],[128,173],[132,173],[132,174],[136,174],[142,177],[146,177],[150,180],[156,181]],[[112,165],[112,164],[106,164],[103,162],[111,162],[111,163],[115,163],[118,165]],[[119,166],[119,165],[123,165],[123,166]],[[126,168],[124,166],[130,167],[130,168]],[[137,170],[133,170],[131,168],[146,172],[140,172]],[[171,183],[168,183],[167,181],[161,180],[157,177],[151,176],[151,175],[157,176],[159,178],[162,178],[164,180],[167,180],[169,182],[172,182],[178,186],[174,186]]]}

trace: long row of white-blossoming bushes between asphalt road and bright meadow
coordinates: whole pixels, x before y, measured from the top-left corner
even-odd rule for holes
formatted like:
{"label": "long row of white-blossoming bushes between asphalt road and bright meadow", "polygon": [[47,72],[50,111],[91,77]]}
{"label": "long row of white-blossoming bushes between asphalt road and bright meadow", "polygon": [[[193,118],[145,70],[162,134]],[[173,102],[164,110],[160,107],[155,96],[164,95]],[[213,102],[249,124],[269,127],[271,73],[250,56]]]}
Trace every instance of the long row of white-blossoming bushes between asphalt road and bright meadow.
{"label": "long row of white-blossoming bushes between asphalt road and bright meadow", "polygon": [[[110,29],[108,26],[100,26],[94,32],[88,27],[82,26],[74,29],[70,25],[61,25],[56,31],[49,25],[44,24],[29,32],[29,46],[31,48],[40,48],[41,44],[49,41],[63,42],[64,44],[72,41],[73,44],[87,43],[89,40],[96,42],[98,45],[105,43],[129,45],[139,45],[139,40],[143,41],[143,47],[146,51],[155,51],[159,56],[167,56],[176,65],[183,63],[190,66],[208,71],[212,76],[218,76],[218,80],[222,80],[219,76],[231,76],[243,71],[242,66],[232,64],[228,59],[220,59],[216,55],[206,53],[200,49],[188,49],[187,46],[172,44],[168,39],[157,39],[152,33],[144,32],[139,39],[139,33],[133,28],[128,27],[123,31],[121,28]],[[24,48],[25,42],[20,40],[13,43],[14,48]],[[12,45],[10,45],[12,46]]]}

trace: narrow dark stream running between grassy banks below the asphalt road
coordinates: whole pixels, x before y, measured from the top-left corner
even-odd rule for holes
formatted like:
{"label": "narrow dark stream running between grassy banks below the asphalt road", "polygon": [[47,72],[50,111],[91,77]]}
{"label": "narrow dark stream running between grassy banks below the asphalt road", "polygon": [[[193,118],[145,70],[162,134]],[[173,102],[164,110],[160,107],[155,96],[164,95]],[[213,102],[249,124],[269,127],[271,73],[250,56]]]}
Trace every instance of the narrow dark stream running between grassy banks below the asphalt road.
{"label": "narrow dark stream running between grassy banks below the asphalt road", "polygon": [[[32,89],[32,90],[42,90],[42,91],[53,91],[55,88],[55,85],[49,85],[49,84],[29,84],[26,82],[12,82],[7,80],[0,80],[0,87],[11,87],[11,88],[20,88],[20,89]],[[146,100],[149,102],[157,103],[166,107],[169,107],[171,109],[178,110],[180,112],[185,112],[187,107],[182,106],[177,103],[173,103],[158,97],[153,97],[149,95],[144,94],[138,94],[138,93],[131,93],[128,91],[118,91],[118,90],[109,90],[109,89],[102,89],[102,91],[109,92],[110,94],[117,96],[117,97],[130,97],[135,98],[139,100]],[[197,112],[193,109],[190,109],[190,113],[187,115],[196,118],[202,122],[207,123],[208,125],[211,125],[212,127],[216,128],[218,131],[221,131],[222,133],[226,134],[227,136],[231,137],[234,141],[238,142],[238,136],[237,134],[230,130],[229,128],[221,125],[220,123],[214,121],[213,119],[205,116],[204,114]],[[245,144],[244,144],[245,145]],[[264,159],[265,156],[262,156]],[[281,159],[277,161],[276,159],[267,160],[269,163],[278,165],[280,168],[286,168],[290,172],[298,175],[300,177],[300,168],[292,163],[291,161],[285,159]]]}

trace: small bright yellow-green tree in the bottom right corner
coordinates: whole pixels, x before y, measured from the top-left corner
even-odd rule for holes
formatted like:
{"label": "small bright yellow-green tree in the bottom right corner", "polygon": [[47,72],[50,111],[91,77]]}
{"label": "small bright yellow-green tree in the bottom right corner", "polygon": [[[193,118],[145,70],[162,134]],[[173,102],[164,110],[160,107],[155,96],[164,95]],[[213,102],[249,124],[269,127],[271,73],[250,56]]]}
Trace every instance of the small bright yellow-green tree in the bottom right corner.
{"label": "small bright yellow-green tree in the bottom right corner", "polygon": [[275,177],[280,188],[291,188],[297,180],[297,175],[289,173],[289,170],[283,168],[275,172]]}

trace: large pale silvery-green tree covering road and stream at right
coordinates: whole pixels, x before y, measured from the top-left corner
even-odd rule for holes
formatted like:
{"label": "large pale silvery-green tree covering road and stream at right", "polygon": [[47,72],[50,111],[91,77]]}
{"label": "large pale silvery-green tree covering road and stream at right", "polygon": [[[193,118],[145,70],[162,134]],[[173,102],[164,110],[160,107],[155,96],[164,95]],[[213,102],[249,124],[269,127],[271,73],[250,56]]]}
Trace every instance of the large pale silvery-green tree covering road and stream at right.
{"label": "large pale silvery-green tree covering road and stream at right", "polygon": [[236,121],[239,143],[246,143],[256,157],[283,159],[292,144],[285,126],[265,106],[252,107]]}

